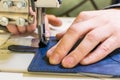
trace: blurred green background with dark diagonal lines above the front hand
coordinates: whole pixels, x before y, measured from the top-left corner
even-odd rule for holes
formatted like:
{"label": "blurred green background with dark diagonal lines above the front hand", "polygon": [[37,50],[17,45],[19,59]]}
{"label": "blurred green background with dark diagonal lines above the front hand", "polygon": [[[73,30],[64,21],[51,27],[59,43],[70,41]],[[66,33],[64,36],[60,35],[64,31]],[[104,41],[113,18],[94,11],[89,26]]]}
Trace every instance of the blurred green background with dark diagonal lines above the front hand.
{"label": "blurred green background with dark diagonal lines above the front hand", "polygon": [[56,16],[75,17],[81,11],[103,9],[113,2],[114,0],[62,0],[60,8],[47,9],[47,13]]}

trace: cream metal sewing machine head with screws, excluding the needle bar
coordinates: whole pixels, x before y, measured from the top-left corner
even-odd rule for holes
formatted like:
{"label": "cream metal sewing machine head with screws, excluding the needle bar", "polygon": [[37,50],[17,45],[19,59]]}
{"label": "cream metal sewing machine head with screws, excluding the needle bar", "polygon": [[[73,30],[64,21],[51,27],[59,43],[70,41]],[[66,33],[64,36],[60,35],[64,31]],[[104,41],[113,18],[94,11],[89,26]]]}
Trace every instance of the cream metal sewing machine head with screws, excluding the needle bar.
{"label": "cream metal sewing machine head with screws, excluding the needle bar", "polygon": [[34,22],[29,8],[59,7],[60,0],[0,0],[0,25],[24,26]]}

